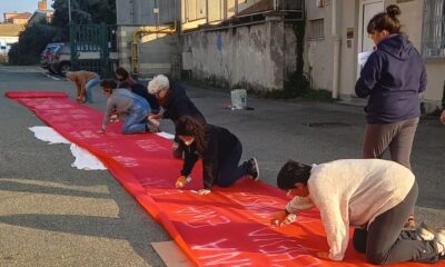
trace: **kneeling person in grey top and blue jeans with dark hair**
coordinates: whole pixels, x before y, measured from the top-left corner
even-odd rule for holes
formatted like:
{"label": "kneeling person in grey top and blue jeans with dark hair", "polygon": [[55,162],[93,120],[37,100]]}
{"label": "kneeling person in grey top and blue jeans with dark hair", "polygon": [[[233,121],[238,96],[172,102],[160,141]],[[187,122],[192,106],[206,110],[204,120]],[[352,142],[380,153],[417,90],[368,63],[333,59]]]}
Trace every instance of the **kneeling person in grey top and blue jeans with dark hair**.
{"label": "kneeling person in grey top and blue jeans with dark hair", "polygon": [[108,122],[117,120],[119,117],[125,118],[123,135],[149,131],[147,117],[150,113],[150,106],[147,100],[128,89],[116,89],[115,80],[102,80],[100,86],[108,100],[102,128],[99,132],[103,134],[107,130]]}

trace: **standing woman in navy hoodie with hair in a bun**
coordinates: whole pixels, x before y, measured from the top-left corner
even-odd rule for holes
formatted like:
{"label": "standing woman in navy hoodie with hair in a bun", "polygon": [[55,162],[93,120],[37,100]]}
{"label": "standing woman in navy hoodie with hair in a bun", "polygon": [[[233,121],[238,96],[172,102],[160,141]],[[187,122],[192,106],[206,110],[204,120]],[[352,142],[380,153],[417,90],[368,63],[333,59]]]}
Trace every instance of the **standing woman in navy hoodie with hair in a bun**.
{"label": "standing woman in navy hoodie with hair in a bun", "polygon": [[367,32],[377,49],[365,63],[355,92],[362,98],[369,97],[363,157],[382,158],[389,148],[392,160],[411,169],[426,71],[422,57],[400,32],[398,14],[399,8],[390,4],[386,12],[370,19]]}

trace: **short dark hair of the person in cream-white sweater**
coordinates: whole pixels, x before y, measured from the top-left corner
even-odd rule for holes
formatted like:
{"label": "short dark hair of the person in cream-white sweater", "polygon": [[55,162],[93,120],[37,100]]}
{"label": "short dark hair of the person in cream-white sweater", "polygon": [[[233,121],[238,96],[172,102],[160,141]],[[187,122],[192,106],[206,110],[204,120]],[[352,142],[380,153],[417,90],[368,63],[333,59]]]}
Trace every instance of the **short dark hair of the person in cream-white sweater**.
{"label": "short dark hair of the person in cream-white sweater", "polygon": [[301,182],[307,185],[307,180],[310,177],[310,169],[313,167],[297,162],[295,160],[288,160],[279,170],[277,176],[277,186],[283,190],[295,188],[295,184]]}

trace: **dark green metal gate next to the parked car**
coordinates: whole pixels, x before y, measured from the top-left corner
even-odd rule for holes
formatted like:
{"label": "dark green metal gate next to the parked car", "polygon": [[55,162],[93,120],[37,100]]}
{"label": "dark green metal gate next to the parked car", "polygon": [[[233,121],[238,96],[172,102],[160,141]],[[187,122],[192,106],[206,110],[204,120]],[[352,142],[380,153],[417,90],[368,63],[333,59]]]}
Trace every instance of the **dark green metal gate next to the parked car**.
{"label": "dark green metal gate next to the parked car", "polygon": [[71,70],[88,70],[102,78],[113,77],[118,66],[117,26],[71,24]]}

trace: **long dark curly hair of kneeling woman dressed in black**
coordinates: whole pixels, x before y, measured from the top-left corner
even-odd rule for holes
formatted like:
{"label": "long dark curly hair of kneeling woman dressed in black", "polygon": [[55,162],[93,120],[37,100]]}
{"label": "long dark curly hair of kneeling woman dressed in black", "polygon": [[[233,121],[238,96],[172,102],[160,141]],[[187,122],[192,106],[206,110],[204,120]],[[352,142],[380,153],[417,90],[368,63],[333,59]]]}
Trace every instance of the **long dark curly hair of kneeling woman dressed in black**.
{"label": "long dark curly hair of kneeling woman dressed in black", "polygon": [[202,155],[207,147],[206,127],[191,116],[182,116],[176,122],[177,136],[192,136],[199,155]]}

